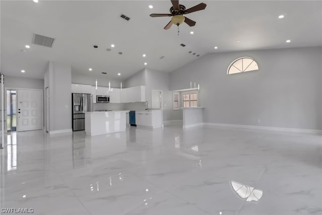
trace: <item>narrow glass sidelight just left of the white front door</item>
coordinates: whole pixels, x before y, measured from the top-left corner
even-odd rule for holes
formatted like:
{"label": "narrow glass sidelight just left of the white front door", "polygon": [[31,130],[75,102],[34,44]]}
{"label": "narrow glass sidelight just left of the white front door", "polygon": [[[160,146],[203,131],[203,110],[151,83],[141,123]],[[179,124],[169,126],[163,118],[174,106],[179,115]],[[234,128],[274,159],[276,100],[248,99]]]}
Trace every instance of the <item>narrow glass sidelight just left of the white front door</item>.
{"label": "narrow glass sidelight just left of the white front door", "polygon": [[17,130],[17,90],[7,90],[7,131]]}

